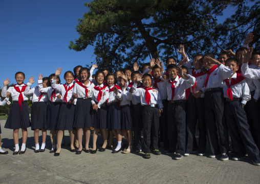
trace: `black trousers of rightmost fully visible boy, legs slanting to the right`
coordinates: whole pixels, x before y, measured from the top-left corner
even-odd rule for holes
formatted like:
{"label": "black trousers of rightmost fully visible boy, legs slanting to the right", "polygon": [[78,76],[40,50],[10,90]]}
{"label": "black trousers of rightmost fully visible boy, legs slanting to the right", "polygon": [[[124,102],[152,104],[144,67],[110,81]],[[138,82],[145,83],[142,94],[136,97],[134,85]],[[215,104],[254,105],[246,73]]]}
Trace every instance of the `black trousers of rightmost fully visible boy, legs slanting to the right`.
{"label": "black trousers of rightmost fully visible boy, legs slanting to the right", "polygon": [[225,117],[232,141],[233,155],[259,159],[259,150],[254,142],[247,122],[246,112],[240,101],[224,101]]}

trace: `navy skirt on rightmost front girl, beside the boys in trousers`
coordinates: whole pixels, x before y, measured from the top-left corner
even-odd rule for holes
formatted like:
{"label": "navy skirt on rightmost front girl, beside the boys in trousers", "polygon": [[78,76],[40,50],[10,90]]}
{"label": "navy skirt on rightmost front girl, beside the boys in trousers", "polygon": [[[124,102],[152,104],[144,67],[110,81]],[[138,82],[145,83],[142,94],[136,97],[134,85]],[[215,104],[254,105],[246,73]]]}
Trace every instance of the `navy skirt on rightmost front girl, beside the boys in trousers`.
{"label": "navy skirt on rightmost front girl, beside the boys in trousers", "polygon": [[121,129],[128,130],[132,129],[132,117],[131,117],[131,108],[130,106],[121,106],[120,107],[120,119],[121,119]]}

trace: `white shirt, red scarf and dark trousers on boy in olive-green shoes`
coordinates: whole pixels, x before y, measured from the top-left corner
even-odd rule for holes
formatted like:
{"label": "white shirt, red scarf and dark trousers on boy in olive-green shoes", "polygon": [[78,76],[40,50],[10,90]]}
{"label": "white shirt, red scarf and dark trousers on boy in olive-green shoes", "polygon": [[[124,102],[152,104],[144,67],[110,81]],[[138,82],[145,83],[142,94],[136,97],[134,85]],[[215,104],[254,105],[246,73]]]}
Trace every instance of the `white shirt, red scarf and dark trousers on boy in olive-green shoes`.
{"label": "white shirt, red scarf and dark trousers on boy in olive-green shoes", "polygon": [[[151,138],[153,139],[153,149],[159,150],[159,109],[163,108],[161,95],[158,89],[155,88],[137,88],[137,84],[132,86],[134,95],[140,96],[141,105],[143,106],[143,151],[150,153]],[[153,135],[151,135],[153,131]]]}

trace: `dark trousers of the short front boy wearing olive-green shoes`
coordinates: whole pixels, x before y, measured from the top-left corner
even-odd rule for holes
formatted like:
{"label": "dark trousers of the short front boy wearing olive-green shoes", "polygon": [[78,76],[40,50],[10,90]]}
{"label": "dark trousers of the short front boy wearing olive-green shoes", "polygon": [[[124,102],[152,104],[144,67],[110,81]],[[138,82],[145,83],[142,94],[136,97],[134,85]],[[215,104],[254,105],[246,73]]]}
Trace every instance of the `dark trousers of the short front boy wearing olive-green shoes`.
{"label": "dark trousers of the short front boy wearing olive-green shoes", "polygon": [[[158,150],[158,139],[159,139],[159,116],[160,111],[156,107],[143,107],[143,151],[144,153],[150,153],[149,148],[151,139],[153,149]],[[151,135],[151,131],[153,135]]]}

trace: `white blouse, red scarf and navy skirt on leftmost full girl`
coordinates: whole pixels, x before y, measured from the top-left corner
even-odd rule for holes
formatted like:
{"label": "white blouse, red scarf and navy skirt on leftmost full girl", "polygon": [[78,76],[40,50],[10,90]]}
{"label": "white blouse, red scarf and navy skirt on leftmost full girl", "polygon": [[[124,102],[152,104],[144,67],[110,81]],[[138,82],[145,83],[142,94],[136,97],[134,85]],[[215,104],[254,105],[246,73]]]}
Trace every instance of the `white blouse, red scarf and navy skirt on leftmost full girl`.
{"label": "white blouse, red scarf and navy skirt on leftmost full girl", "polygon": [[20,129],[30,127],[29,106],[27,104],[28,96],[25,95],[26,85],[14,85],[2,89],[2,96],[6,97],[6,92],[10,92],[13,104],[10,109],[9,116],[6,120],[5,128]]}

